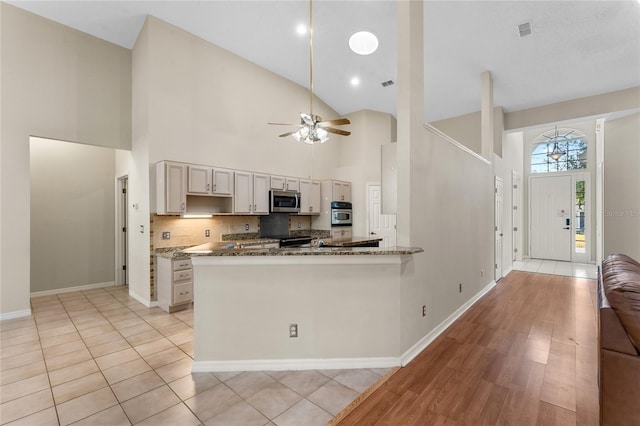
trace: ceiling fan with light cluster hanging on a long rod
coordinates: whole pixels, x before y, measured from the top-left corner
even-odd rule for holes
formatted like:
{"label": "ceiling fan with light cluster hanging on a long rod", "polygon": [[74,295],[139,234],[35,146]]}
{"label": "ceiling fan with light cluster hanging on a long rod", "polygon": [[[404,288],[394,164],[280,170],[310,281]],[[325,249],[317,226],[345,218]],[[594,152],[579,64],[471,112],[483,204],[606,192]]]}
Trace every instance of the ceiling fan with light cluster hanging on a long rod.
{"label": "ceiling fan with light cluster hanging on a long rod", "polygon": [[336,129],[331,126],[343,126],[351,124],[346,118],[323,121],[318,115],[313,114],[313,10],[312,1],[309,0],[309,114],[300,113],[300,124],[268,123],[276,126],[298,126],[298,130],[278,135],[281,138],[293,136],[298,142],[314,144],[325,143],[329,139],[329,133],[349,136],[351,132]]}

